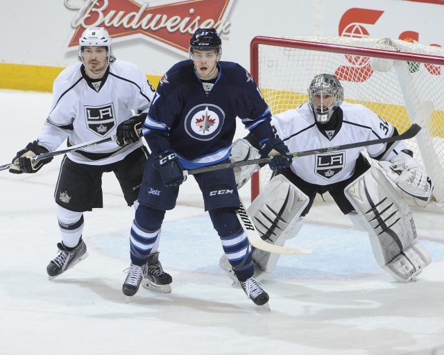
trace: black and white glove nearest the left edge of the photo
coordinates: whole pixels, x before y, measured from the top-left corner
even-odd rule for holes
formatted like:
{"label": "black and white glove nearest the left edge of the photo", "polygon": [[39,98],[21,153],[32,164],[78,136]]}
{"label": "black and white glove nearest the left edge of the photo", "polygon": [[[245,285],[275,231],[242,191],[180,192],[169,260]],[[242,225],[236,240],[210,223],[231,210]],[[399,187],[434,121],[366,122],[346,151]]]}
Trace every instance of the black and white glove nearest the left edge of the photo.
{"label": "black and white glove nearest the left edge of the photo", "polygon": [[9,172],[13,174],[37,173],[44,164],[48,164],[53,159],[51,157],[40,160],[39,162],[33,160],[34,157],[43,153],[48,153],[48,150],[39,146],[37,141],[29,143],[26,148],[17,152],[17,155],[12,159],[12,166],[9,168]]}

